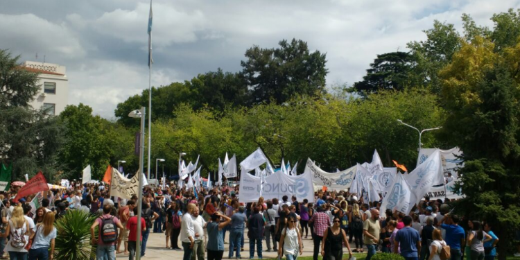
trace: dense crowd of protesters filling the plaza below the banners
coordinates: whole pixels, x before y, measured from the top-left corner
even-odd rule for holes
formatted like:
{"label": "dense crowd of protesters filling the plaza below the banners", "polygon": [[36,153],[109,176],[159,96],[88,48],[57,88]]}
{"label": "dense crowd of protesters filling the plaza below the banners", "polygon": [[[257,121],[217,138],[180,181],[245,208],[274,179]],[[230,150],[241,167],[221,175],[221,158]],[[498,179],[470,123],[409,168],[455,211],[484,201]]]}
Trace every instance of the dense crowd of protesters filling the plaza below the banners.
{"label": "dense crowd of protesters filling the plaza below the banners", "polygon": [[[327,260],[343,259],[344,254],[350,258],[365,249],[367,260],[377,251],[401,254],[406,260],[493,260],[499,241],[490,223],[451,214],[449,200],[426,198],[409,214],[389,209],[380,214],[381,202],[365,203],[346,191],[317,191],[315,202],[283,196],[244,204],[238,187],[198,192],[146,187],[138,194],[142,218],[137,238],[136,195],[114,198],[108,185],[73,183],[46,195],[32,214],[28,202],[33,196],[15,202],[16,191],[0,194],[0,250],[8,254],[1,259],[53,259],[55,220],[72,210],[97,216],[91,236],[98,260],[115,259],[116,253],[128,254],[130,260],[137,254],[145,257],[150,232],[163,233],[165,248],[182,250],[183,260],[220,260],[225,251],[228,259],[253,259],[255,254],[262,259],[264,245],[266,252],[296,260],[304,239],[313,242],[313,260],[319,255]],[[243,252],[245,236],[249,255]],[[141,251],[136,252],[139,241]]]}

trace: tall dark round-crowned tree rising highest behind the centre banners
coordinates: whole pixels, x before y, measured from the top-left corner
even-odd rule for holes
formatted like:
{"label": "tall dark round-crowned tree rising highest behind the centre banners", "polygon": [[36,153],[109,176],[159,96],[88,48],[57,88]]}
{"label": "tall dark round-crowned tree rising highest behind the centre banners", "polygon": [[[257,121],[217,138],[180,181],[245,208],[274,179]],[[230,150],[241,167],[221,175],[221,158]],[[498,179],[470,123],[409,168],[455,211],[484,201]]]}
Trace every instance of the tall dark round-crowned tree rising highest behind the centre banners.
{"label": "tall dark round-crowned tree rising highest behind the centre banners", "polygon": [[325,92],[325,54],[311,53],[307,43],[282,40],[278,49],[253,46],[245,51],[242,75],[252,91],[252,104],[278,104],[300,94],[314,96]]}

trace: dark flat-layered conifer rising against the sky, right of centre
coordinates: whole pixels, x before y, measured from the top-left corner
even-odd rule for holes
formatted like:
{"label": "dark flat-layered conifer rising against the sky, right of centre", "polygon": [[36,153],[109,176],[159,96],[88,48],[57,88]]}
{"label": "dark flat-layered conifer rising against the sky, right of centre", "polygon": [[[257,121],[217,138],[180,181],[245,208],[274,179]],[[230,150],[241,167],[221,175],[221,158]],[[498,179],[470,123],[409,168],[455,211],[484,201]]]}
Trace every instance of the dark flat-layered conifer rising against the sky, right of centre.
{"label": "dark flat-layered conifer rising against the sky, right of centre", "polygon": [[377,58],[367,69],[363,81],[354,83],[356,92],[374,93],[383,89],[403,90],[410,86],[410,71],[415,65],[413,55],[397,51],[384,53]]}

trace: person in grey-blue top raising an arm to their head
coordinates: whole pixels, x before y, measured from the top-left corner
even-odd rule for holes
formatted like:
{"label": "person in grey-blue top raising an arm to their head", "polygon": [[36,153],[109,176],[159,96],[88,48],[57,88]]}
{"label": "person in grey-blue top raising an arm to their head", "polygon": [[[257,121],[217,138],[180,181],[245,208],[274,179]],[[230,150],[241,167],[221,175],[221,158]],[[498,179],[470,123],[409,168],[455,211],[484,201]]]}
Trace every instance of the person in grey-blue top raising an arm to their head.
{"label": "person in grey-blue top raising an arm to their head", "polygon": [[[220,222],[223,219],[224,221]],[[221,260],[224,255],[224,233],[223,229],[231,223],[231,218],[215,212],[211,215],[211,222],[207,223],[207,259]],[[238,247],[237,247],[238,248]]]}

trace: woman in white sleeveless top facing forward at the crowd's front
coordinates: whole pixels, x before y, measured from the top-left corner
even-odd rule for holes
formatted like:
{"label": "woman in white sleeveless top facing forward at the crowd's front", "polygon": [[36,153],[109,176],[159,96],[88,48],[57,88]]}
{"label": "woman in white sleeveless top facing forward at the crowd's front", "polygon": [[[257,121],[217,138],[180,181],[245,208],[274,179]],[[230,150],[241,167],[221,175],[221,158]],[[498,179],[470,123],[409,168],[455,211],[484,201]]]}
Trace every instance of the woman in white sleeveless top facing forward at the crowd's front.
{"label": "woman in white sleeveless top facing forward at the crowd's front", "polygon": [[297,229],[295,218],[288,216],[287,223],[286,228],[281,231],[278,255],[280,258],[285,255],[287,260],[296,260],[298,253],[303,252],[302,236]]}

